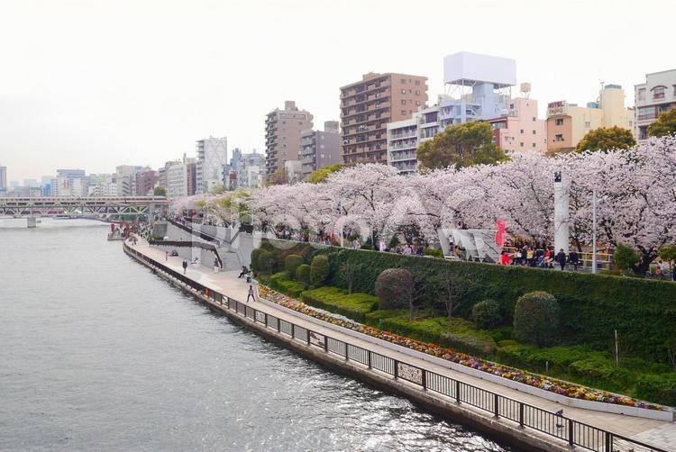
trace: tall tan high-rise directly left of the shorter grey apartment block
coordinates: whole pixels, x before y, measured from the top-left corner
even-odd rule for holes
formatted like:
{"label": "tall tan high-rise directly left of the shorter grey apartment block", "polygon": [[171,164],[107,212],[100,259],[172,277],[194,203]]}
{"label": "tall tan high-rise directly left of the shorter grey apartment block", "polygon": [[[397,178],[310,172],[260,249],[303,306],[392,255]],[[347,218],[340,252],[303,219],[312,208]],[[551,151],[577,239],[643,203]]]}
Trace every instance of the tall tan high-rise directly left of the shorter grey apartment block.
{"label": "tall tan high-rise directly left of the shorter grey apartment block", "polygon": [[265,118],[265,168],[272,174],[288,160],[298,160],[300,132],[312,129],[312,114],[298,110],[294,101],[286,101],[284,110],[275,110]]}

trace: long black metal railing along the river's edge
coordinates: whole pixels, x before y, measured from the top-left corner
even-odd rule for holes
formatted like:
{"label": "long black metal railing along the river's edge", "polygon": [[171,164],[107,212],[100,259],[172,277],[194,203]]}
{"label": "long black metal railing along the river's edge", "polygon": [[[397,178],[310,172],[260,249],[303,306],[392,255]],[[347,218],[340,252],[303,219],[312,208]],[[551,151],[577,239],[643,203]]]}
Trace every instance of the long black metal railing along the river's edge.
{"label": "long black metal railing along the river's edge", "polygon": [[260,323],[266,328],[277,330],[280,334],[288,336],[306,344],[308,347],[324,349],[326,353],[332,353],[345,360],[359,363],[372,371],[378,371],[385,375],[393,376],[396,380],[403,380],[414,384],[424,391],[432,391],[443,395],[445,398],[458,404],[465,403],[481,411],[492,414],[495,418],[510,420],[523,429],[534,429],[551,438],[556,438],[570,446],[582,447],[587,450],[598,452],[667,452],[660,447],[644,444],[635,439],[626,438],[616,433],[598,429],[578,420],[572,420],[552,411],[546,411],[519,402],[498,393],[492,393],[472,384],[463,383],[446,375],[440,375],[422,367],[408,364],[404,361],[380,355],[367,348],[361,348],[326,336],[317,331],[308,330],[290,321],[279,319],[267,312],[261,312],[252,308],[247,303],[242,303],[200,285],[186,276],[162,265],[160,262],[146,257],[142,253],[127,246],[124,249],[137,259],[178,280],[188,287],[202,293],[214,303],[237,312],[255,323]]}

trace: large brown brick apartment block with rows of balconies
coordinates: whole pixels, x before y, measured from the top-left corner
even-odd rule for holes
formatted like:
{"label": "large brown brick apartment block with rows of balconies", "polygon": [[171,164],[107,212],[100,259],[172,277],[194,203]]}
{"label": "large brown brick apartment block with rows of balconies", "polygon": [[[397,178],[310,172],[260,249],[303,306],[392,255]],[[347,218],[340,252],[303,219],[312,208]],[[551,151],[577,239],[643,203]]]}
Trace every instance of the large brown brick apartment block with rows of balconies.
{"label": "large brown brick apartment block with rows of balconies", "polygon": [[343,162],[388,163],[388,122],[427,103],[427,77],[370,72],[341,87]]}

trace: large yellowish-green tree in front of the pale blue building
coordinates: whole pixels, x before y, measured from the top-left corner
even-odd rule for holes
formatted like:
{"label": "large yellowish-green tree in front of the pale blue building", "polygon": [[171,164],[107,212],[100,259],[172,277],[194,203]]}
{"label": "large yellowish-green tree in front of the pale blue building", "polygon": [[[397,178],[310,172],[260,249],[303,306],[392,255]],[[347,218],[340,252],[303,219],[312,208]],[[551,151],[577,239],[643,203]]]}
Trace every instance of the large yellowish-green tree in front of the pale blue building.
{"label": "large yellowish-green tree in front of the pale blue building", "polygon": [[493,144],[488,122],[465,122],[449,126],[416,149],[421,169],[470,167],[493,164],[505,159],[505,153]]}

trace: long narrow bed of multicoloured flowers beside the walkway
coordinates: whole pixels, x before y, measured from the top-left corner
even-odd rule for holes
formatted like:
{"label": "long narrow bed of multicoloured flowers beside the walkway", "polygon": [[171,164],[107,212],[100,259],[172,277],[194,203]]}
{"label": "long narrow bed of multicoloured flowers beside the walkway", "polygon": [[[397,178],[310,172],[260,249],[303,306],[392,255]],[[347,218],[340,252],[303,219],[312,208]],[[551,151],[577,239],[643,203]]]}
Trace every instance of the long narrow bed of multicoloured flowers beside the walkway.
{"label": "long narrow bed of multicoloured flowers beside the walkway", "polygon": [[337,318],[329,313],[318,312],[315,309],[307,306],[305,303],[301,303],[298,300],[286,295],[279,294],[264,285],[259,285],[259,293],[260,296],[273,303],[277,303],[288,309],[301,312],[320,321],[326,321],[349,330],[358,331],[373,338],[387,340],[388,342],[402,347],[411,348],[433,357],[440,357],[461,366],[468,366],[473,369],[480,370],[481,372],[508,378],[518,383],[528,384],[529,386],[544,389],[545,391],[549,391],[551,393],[557,393],[566,397],[587,400],[591,402],[613,403],[617,405],[633,406],[636,408],[644,408],[648,410],[665,410],[665,407],[662,405],[641,402],[625,395],[607,393],[605,391],[599,391],[597,389],[581,386],[580,384],[572,384],[562,380],[549,378],[545,375],[525,372],[523,370],[516,369],[515,367],[503,366],[501,364],[486,361],[478,357],[471,357],[470,355],[455,352],[449,348],[442,348],[435,344],[426,344],[425,342],[421,342],[419,340],[405,338],[388,331],[379,330],[368,325],[357,323],[356,321]]}

